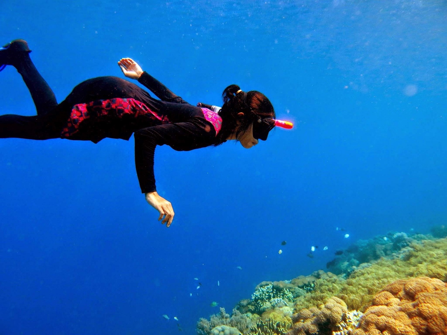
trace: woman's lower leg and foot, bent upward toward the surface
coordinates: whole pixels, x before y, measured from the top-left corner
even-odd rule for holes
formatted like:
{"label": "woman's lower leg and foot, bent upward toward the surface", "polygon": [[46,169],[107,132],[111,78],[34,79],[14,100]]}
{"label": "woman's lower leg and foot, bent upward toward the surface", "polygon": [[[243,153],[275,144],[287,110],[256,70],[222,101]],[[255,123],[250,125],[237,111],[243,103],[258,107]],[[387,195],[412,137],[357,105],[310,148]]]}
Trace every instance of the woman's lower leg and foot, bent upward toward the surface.
{"label": "woman's lower leg and foot, bent upward toward the surface", "polygon": [[24,40],[15,40],[0,50],[0,64],[13,65],[30,90],[37,115],[44,115],[57,106],[50,86],[37,71],[30,58],[30,49]]}

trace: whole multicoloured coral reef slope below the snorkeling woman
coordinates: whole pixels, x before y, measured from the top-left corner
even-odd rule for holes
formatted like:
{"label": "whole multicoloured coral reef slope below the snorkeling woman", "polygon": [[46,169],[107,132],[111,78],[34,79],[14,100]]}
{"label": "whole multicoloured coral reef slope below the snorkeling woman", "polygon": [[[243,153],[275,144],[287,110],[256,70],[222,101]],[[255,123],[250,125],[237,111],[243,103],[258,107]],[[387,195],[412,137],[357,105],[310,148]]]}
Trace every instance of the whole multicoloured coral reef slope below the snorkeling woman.
{"label": "whole multicoloured coral reef slope below the snorkeling woman", "polygon": [[390,233],[347,250],[338,257],[338,274],[319,270],[262,282],[231,317],[221,309],[199,320],[198,334],[224,325],[244,335],[283,335],[293,323],[289,335],[447,335],[447,238]]}

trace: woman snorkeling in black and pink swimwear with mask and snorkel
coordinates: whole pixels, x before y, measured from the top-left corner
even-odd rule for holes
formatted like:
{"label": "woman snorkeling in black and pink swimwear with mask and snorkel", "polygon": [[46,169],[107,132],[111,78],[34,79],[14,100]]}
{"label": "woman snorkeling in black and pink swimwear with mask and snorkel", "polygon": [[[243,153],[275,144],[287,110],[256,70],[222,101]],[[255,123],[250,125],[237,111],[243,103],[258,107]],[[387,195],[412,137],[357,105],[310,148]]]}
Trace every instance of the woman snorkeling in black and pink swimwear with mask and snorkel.
{"label": "woman snorkeling in black and pink swimwear with mask and snorkel", "polygon": [[124,75],[138,80],[160,100],[127,80],[106,76],[80,83],[58,104],[31,61],[30,52],[24,40],[14,40],[0,48],[0,71],[6,65],[17,69],[37,110],[36,116],[0,116],[0,138],[67,138],[97,143],[107,137],[129,140],[134,133],[135,167],[141,191],[160,213],[158,220],[168,227],[174,210],[156,192],[154,152],[157,145],[190,151],[234,139],[243,147],[251,148],[259,139],[266,140],[275,125],[291,128],[290,122],[284,124],[274,119],[270,100],[260,92],[243,92],[239,86],[230,85],[223,90],[223,106],[218,112],[193,106],[130,58],[118,62]]}

